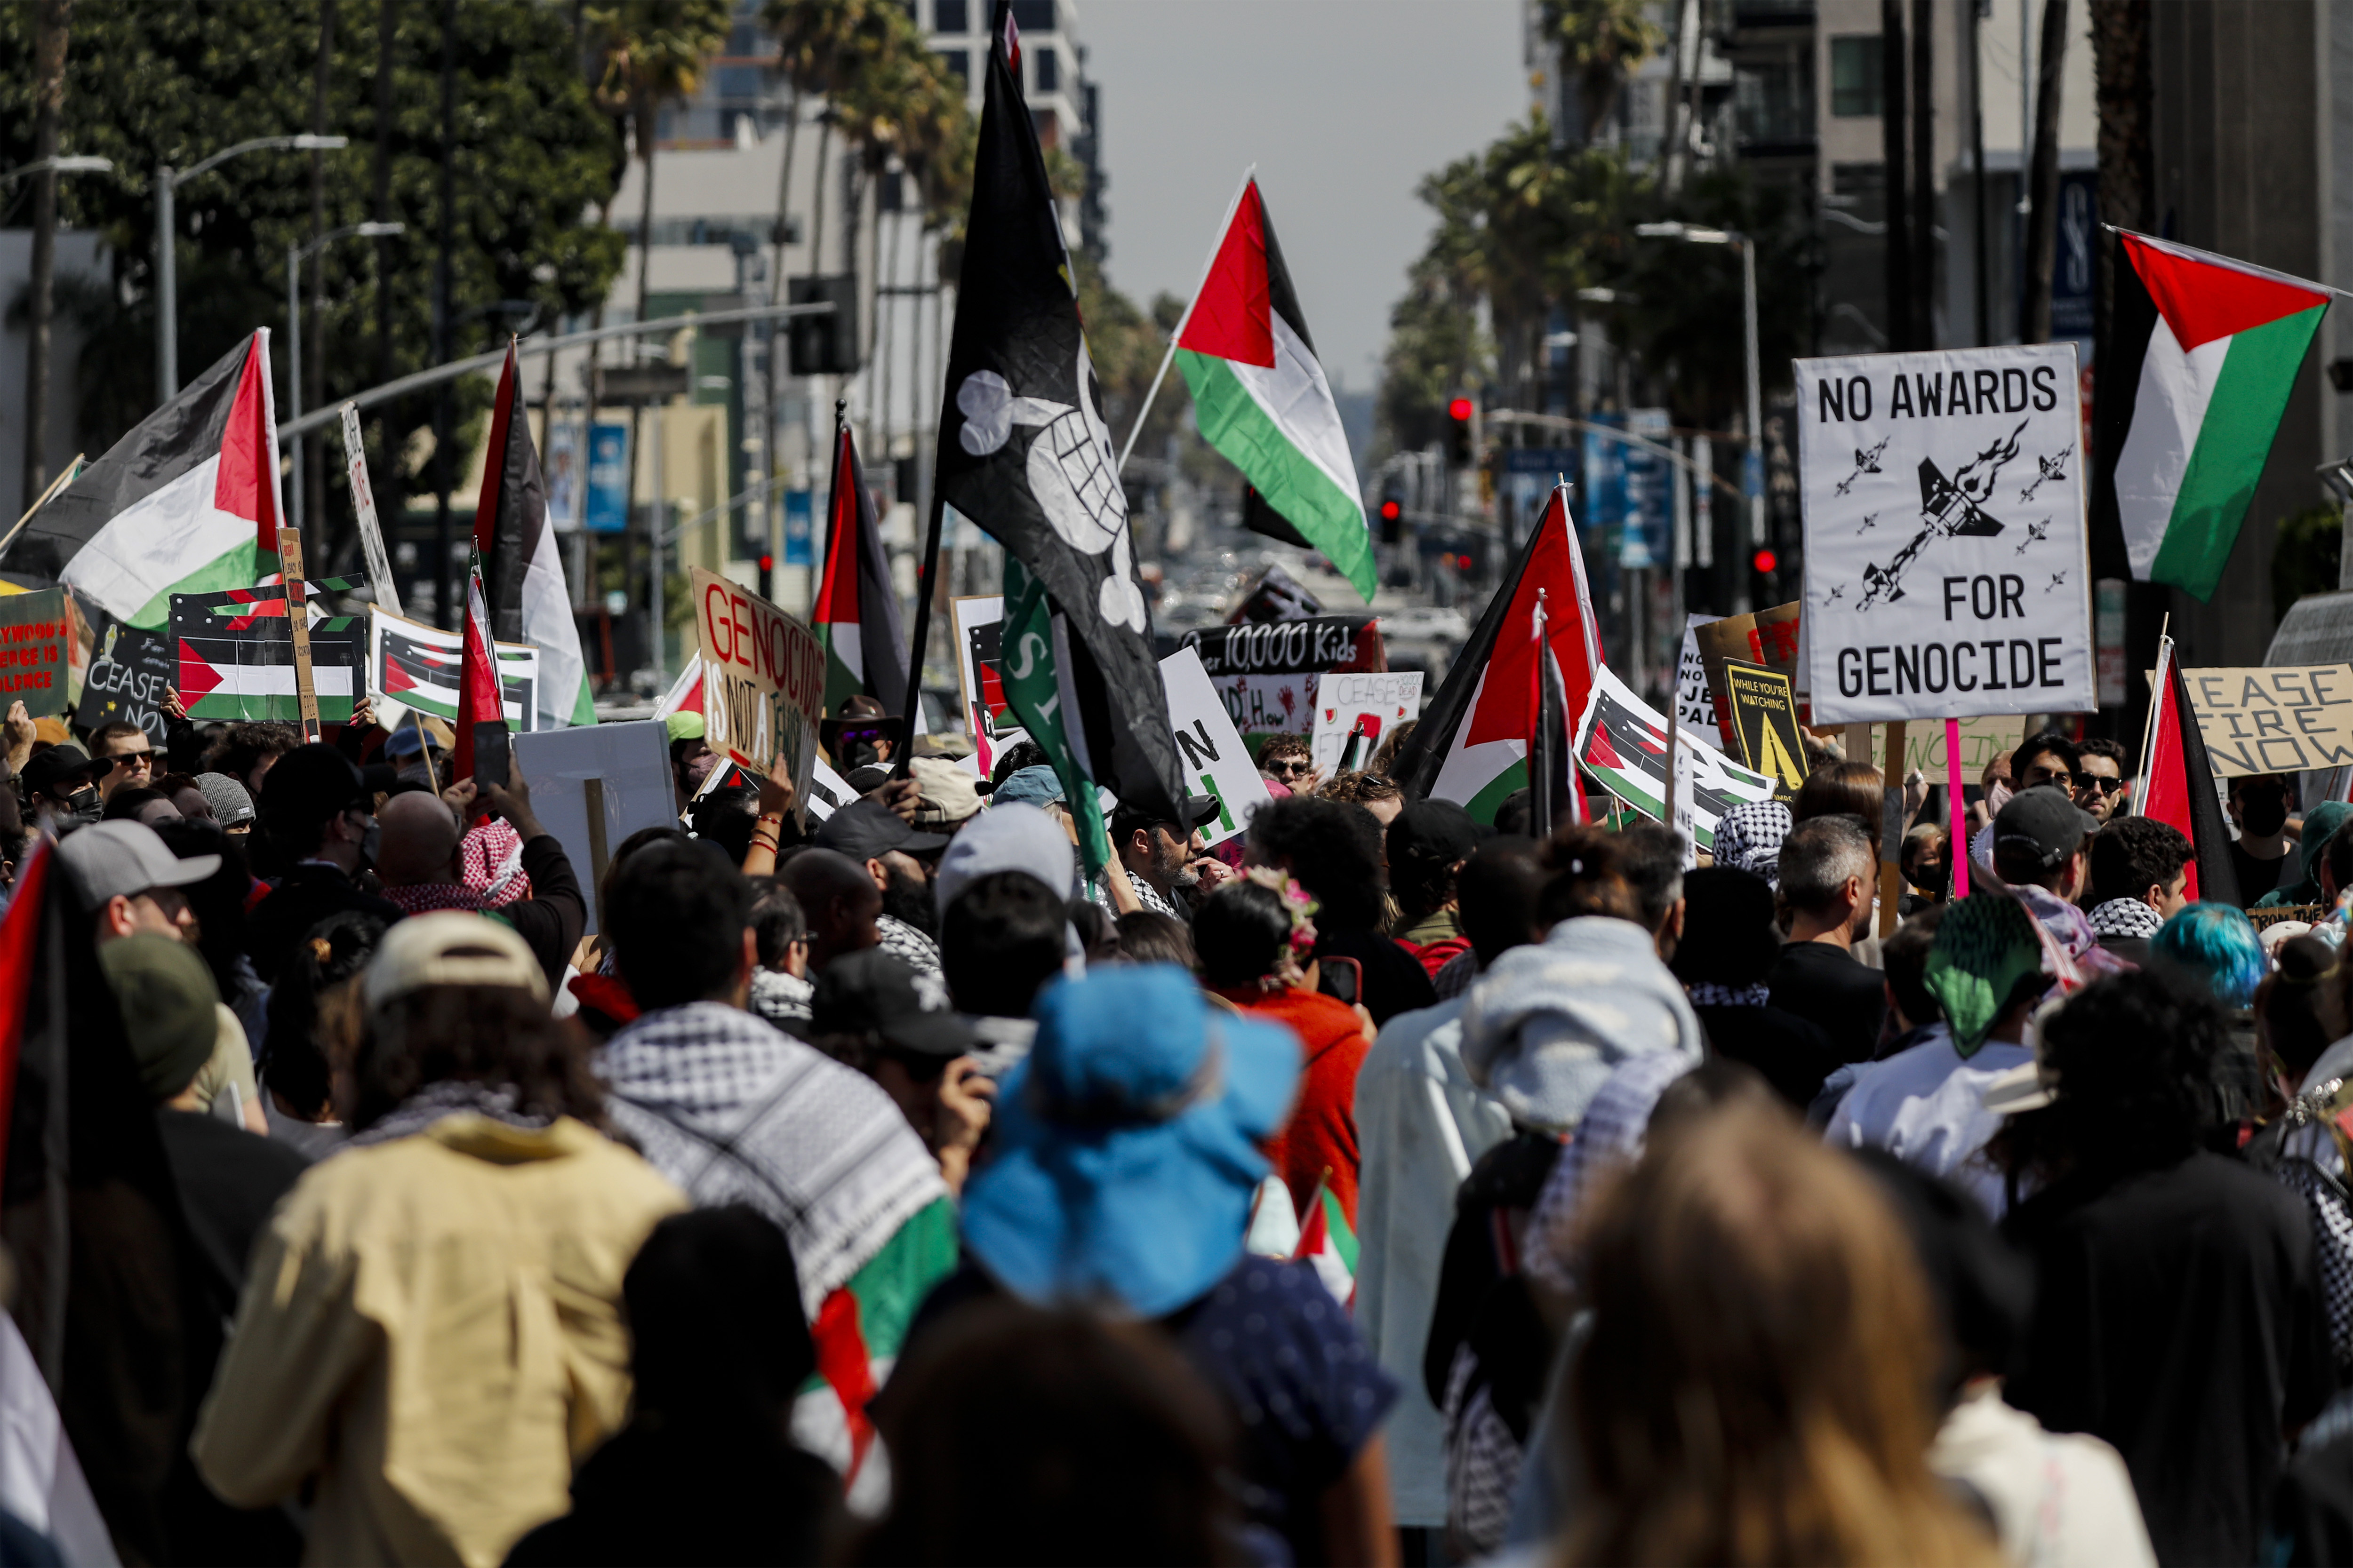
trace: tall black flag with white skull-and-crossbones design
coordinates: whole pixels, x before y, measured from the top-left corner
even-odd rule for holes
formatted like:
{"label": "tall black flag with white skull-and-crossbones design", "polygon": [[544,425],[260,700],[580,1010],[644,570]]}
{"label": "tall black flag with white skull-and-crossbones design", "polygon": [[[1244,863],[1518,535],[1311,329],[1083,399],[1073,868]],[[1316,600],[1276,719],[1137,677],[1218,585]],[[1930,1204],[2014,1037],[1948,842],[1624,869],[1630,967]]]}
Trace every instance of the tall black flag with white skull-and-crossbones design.
{"label": "tall black flag with white skull-and-crossbones design", "polygon": [[1054,637],[1054,658],[1085,773],[1176,820],[1184,769],[1136,585],[1127,496],[1012,49],[1012,9],[998,0],[939,416],[939,494],[1045,583],[1066,632]]}

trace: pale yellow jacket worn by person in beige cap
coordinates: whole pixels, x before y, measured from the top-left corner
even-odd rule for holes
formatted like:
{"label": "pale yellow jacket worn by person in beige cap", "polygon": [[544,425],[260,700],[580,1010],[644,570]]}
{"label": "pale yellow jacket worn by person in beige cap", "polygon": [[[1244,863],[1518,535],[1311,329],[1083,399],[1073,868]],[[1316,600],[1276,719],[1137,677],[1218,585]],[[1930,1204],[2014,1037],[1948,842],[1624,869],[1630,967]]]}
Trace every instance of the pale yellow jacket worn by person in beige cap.
{"label": "pale yellow jacket worn by person in beige cap", "polygon": [[315,1476],[308,1563],[492,1568],[628,1418],[621,1274],[685,1206],[569,1119],[320,1161],[254,1248],[198,1469],[240,1507]]}

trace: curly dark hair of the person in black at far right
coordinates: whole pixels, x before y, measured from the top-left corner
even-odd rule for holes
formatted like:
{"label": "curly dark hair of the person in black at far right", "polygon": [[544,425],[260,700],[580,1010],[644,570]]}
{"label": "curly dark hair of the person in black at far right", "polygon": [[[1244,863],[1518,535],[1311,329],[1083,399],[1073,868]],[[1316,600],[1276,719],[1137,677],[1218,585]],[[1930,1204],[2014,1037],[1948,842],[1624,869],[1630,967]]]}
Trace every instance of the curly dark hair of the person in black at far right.
{"label": "curly dark hair of the person in black at far right", "polygon": [[2148,971],[2111,976],[2042,1020],[2040,1041],[2059,1098],[2012,1114],[1991,1145],[2014,1190],[2172,1166],[2221,1121],[2228,1025],[2209,997]]}

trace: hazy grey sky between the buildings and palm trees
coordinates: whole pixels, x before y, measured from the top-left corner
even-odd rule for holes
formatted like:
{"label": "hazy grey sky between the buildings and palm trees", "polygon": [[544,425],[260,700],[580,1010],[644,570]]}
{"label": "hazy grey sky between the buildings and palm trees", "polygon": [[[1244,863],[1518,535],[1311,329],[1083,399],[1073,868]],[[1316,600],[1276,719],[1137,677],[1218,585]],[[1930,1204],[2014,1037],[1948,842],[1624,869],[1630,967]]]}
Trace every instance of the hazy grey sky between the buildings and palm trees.
{"label": "hazy grey sky between the buildings and palm trees", "polygon": [[1078,0],[1101,85],[1111,280],[1191,294],[1242,169],[1318,357],[1369,390],[1431,230],[1424,174],[1527,113],[1520,0]]}

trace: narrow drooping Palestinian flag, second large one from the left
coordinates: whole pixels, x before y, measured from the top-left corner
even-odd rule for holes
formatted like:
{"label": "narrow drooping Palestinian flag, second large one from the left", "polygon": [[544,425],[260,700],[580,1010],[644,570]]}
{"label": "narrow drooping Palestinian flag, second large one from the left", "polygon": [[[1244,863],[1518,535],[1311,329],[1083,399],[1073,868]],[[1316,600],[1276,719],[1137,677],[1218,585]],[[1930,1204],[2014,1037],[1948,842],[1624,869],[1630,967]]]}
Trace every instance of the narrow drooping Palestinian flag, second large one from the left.
{"label": "narrow drooping Palestinian flag, second large one from the left", "polygon": [[506,346],[499,395],[489,404],[489,449],[482,458],[482,498],[473,512],[473,548],[482,557],[482,595],[496,642],[539,649],[539,717],[522,729],[595,724],[581,628],[572,618],[565,559],[548,520],[548,487],[522,416],[515,346]]}

